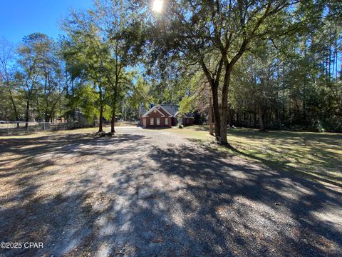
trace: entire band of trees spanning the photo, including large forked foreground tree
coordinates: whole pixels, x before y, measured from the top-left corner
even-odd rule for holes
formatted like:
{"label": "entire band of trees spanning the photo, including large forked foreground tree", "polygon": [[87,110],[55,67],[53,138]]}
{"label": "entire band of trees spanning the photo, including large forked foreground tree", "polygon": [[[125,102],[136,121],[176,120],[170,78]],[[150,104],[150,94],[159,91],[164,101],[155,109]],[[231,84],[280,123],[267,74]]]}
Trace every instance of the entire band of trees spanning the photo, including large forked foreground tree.
{"label": "entire band of trees spanning the photo, including large forked foreground tree", "polygon": [[[180,104],[214,124],[342,131],[339,1],[94,1],[58,41],[1,44],[1,119],[111,121],[140,103]],[[30,111],[31,110],[31,111]]]}

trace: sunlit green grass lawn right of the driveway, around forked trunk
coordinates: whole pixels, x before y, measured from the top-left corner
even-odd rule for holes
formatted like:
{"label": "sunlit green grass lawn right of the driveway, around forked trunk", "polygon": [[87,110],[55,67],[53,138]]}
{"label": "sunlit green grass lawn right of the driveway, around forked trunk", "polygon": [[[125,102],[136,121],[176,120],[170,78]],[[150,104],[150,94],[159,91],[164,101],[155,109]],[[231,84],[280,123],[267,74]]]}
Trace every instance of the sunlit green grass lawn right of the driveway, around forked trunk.
{"label": "sunlit green grass lawn right of the driveway, around forked trunk", "polygon": [[232,149],[210,143],[207,126],[168,129],[191,141],[229,154],[259,161],[276,171],[291,171],[323,183],[342,186],[342,134],[294,131],[259,132],[229,129]]}

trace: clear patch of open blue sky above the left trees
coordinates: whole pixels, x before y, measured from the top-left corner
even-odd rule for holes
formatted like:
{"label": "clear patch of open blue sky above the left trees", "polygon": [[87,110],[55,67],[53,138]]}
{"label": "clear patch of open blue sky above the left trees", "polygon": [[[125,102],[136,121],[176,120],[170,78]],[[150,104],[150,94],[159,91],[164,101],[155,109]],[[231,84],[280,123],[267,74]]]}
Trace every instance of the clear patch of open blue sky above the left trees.
{"label": "clear patch of open blue sky above the left trees", "polygon": [[58,21],[70,9],[87,9],[92,0],[0,0],[0,38],[13,43],[31,33],[57,38]]}

